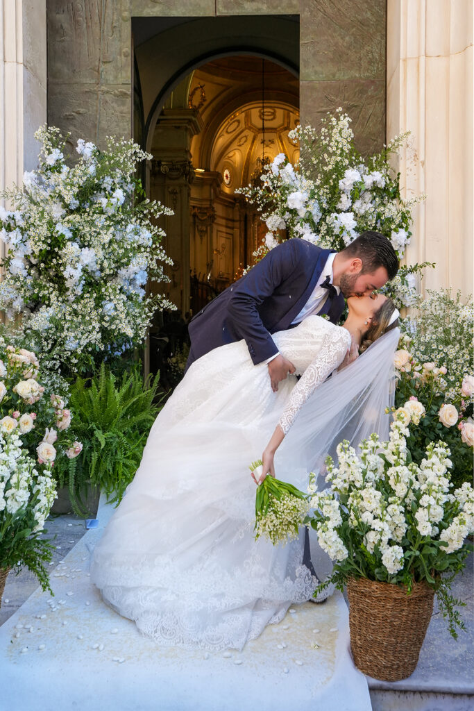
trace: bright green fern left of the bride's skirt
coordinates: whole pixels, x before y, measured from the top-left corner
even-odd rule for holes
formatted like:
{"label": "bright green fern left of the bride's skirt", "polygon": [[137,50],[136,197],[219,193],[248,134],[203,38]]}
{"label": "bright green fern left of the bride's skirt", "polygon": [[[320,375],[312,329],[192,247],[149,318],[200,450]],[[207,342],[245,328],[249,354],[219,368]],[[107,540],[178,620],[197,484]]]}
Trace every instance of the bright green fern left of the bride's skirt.
{"label": "bright green fern left of the bride's skirt", "polygon": [[77,459],[56,471],[60,485],[68,483],[76,513],[85,515],[87,486],[98,486],[112,503],[122,501],[141,461],[158,405],[159,373],[144,381],[135,365],[117,378],[104,363],[94,378],[77,378],[70,391],[77,437],[83,444]]}

